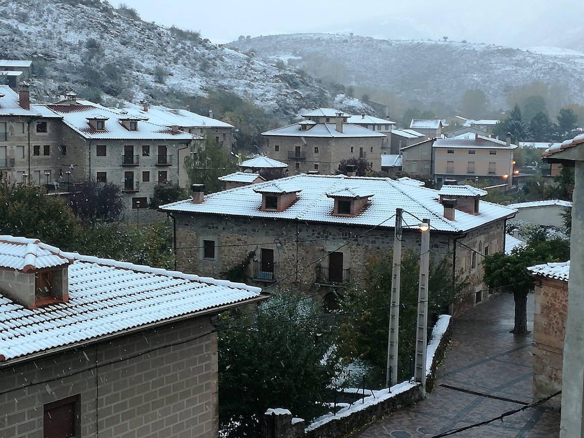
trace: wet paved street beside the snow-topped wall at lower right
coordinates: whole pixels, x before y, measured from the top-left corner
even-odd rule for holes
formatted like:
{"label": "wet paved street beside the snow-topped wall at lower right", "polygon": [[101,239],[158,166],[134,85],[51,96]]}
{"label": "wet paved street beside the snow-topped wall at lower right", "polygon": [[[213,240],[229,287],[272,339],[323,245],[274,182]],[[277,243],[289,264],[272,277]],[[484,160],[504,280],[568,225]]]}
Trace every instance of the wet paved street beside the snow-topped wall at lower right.
{"label": "wet paved street beside the snow-topped wall at lower right", "polygon": [[[452,343],[437,385],[446,384],[507,399],[533,401],[531,335],[514,336],[513,296],[499,294],[454,320]],[[533,329],[533,294],[527,305]],[[429,438],[468,426],[521,405],[437,386],[411,408],[402,409],[354,434],[355,438]],[[465,430],[454,438],[553,438],[559,436],[559,415],[527,409],[489,425]]]}

